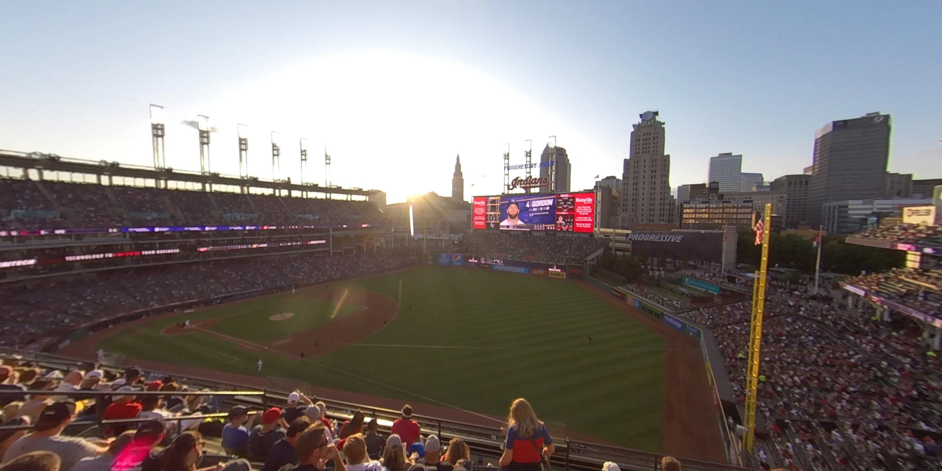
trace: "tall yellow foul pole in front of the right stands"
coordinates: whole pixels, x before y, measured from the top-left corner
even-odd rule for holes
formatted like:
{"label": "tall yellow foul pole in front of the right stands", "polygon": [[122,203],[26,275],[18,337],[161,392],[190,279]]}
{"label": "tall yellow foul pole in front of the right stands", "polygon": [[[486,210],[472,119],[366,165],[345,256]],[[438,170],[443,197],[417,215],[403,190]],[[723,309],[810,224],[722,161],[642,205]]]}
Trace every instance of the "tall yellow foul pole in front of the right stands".
{"label": "tall yellow foul pole in front of the right stands", "polygon": [[753,317],[749,330],[749,359],[746,365],[746,436],[742,450],[751,453],[755,438],[755,400],[759,381],[759,350],[762,343],[762,316],[765,313],[766,274],[769,269],[769,241],[771,240],[771,203],[766,203],[762,231],[762,258],[755,273],[753,285]]}

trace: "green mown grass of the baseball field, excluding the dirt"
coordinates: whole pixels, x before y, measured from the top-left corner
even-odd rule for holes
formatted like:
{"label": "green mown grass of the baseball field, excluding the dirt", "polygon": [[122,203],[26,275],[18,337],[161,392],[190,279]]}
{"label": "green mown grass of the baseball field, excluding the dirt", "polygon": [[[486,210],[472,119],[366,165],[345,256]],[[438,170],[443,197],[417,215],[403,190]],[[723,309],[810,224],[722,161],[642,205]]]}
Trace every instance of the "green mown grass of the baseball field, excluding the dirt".
{"label": "green mown grass of the baseball field, excluding the dirt", "polygon": [[[332,303],[310,296],[320,286],[164,318],[100,347],[246,375],[259,374],[261,357],[263,376],[484,414],[506,415],[512,399],[524,397],[548,424],[659,451],[665,341],[658,333],[580,284],[545,277],[420,267],[346,284],[395,300],[400,281],[399,314],[389,325],[304,363],[210,334],[160,331],[187,318],[221,318],[213,330],[253,342],[277,339],[329,320]],[[281,312],[295,317],[268,320]]]}

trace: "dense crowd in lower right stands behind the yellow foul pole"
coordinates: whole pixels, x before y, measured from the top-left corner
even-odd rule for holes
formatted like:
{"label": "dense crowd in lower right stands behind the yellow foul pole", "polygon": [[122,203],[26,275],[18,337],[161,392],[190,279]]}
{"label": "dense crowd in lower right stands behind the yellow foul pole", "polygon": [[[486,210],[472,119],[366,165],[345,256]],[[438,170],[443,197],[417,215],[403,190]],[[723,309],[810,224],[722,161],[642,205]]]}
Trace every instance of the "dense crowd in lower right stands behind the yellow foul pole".
{"label": "dense crowd in lower right stands behind the yellow foul pole", "polygon": [[[942,468],[942,373],[918,326],[785,286],[771,284],[765,303],[758,412],[775,446],[760,459],[802,469]],[[712,329],[741,400],[751,307],[681,315]]]}

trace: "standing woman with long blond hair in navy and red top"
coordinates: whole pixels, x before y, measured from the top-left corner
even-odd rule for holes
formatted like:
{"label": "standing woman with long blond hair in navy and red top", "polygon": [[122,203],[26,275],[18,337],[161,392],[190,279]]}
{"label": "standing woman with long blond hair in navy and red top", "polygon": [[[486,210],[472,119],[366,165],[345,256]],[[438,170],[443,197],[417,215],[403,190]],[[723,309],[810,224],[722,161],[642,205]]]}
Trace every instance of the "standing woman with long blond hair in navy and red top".
{"label": "standing woman with long blond hair in navy and red top", "polygon": [[507,440],[500,465],[509,471],[540,471],[540,463],[553,454],[553,439],[525,398],[511,404],[507,416]]}

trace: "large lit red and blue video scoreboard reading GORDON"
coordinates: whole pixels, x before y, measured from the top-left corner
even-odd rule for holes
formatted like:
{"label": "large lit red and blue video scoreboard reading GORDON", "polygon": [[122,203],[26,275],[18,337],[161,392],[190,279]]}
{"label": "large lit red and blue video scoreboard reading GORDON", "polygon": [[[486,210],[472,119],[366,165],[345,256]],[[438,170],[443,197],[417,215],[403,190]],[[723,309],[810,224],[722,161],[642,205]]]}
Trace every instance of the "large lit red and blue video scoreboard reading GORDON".
{"label": "large lit red and blue video scoreboard reading GORDON", "polygon": [[595,193],[544,193],[474,197],[475,229],[594,232]]}

